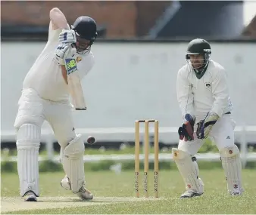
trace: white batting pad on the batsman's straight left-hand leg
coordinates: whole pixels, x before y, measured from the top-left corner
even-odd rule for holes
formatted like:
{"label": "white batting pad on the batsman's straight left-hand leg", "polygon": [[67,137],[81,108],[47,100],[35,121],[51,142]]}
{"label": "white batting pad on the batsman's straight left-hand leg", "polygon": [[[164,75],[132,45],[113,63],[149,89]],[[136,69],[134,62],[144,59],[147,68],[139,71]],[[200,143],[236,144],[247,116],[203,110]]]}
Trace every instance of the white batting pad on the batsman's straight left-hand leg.
{"label": "white batting pad on the batsman's straight left-hand leg", "polygon": [[17,131],[17,171],[20,195],[33,191],[39,196],[39,146],[41,128],[36,124],[23,124]]}

